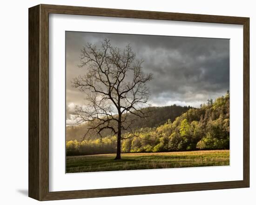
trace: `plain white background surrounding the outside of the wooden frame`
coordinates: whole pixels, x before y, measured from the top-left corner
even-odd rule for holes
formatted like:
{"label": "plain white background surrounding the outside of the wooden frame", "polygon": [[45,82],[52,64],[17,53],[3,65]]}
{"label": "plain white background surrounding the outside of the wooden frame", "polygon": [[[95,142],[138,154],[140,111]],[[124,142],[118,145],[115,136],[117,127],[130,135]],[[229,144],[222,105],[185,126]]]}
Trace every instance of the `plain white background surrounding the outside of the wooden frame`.
{"label": "plain white background surrounding the outside of the wooden frame", "polygon": [[[250,17],[250,188],[201,192],[74,199],[44,204],[248,204],[256,203],[256,5],[252,0],[22,0],[2,1],[0,12],[0,203],[26,205],[40,202],[27,197],[28,189],[28,7],[61,4],[178,13]],[[242,88],[241,88],[242,89]],[[131,179],[132,180],[132,179]]]}

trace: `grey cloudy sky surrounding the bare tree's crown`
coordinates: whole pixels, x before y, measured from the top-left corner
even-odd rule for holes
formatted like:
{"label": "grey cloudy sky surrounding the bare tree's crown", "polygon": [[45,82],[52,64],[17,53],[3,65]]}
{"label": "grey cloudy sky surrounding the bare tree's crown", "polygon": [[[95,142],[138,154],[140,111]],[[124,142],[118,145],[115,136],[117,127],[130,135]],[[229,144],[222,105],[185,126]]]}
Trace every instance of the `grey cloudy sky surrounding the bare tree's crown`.
{"label": "grey cloudy sky surrounding the bare tree's crown", "polygon": [[71,87],[74,77],[84,75],[77,66],[81,48],[88,42],[101,45],[104,38],[121,49],[129,43],[144,60],[143,71],[153,74],[148,83],[152,106],[199,107],[229,90],[229,39],[66,32],[67,125],[73,123],[74,106],[84,103],[84,94]]}

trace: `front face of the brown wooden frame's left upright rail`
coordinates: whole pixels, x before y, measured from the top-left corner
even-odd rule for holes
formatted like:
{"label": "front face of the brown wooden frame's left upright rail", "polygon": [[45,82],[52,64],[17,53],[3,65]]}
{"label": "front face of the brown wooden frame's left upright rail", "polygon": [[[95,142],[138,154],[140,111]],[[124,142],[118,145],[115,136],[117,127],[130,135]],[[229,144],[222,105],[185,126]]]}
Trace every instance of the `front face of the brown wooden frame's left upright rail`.
{"label": "front face of the brown wooden frame's left upright rail", "polygon": [[40,5],[40,200],[49,192],[49,18]]}

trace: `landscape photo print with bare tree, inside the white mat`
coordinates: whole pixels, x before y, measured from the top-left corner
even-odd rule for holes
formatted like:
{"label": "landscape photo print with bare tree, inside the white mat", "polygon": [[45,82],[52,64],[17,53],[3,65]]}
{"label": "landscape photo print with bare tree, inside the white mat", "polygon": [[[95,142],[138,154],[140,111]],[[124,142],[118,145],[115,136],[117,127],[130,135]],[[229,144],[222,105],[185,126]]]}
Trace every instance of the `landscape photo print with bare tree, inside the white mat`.
{"label": "landscape photo print with bare tree, inside the white mat", "polygon": [[229,166],[229,39],[65,35],[66,173]]}

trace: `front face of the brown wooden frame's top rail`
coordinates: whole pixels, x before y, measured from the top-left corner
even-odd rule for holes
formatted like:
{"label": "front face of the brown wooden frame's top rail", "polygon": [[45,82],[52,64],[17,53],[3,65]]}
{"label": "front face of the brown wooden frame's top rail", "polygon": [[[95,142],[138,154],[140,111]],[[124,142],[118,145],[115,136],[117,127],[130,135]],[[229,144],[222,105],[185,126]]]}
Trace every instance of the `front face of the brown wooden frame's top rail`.
{"label": "front face of the brown wooden frame's top rail", "polygon": [[48,13],[108,16],[108,17],[120,17],[120,18],[135,18],[135,19],[175,20],[175,21],[192,21],[192,22],[206,22],[206,23],[222,23],[222,24],[243,24],[243,22],[247,19],[244,17],[233,17],[233,16],[217,16],[217,15],[203,15],[203,14],[191,14],[191,13],[168,13],[168,12],[94,8],[94,7],[81,7],[81,6],[59,6],[59,5],[41,5],[41,6],[43,6],[44,9],[47,9]]}

